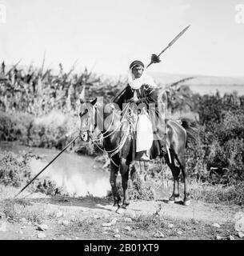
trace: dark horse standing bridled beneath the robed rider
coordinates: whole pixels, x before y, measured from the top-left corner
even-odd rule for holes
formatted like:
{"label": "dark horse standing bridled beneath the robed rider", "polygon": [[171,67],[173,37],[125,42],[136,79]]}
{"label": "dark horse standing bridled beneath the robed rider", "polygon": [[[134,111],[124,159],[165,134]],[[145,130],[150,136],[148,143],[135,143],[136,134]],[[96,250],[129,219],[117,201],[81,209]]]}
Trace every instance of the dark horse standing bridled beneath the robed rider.
{"label": "dark horse standing bridled beneath the robed rider", "polygon": [[[94,143],[98,142],[99,138],[102,138],[102,150],[110,155],[110,185],[114,196],[114,206],[119,207],[121,202],[116,186],[116,178],[118,170],[120,170],[123,189],[122,208],[126,208],[130,204],[127,188],[133,147],[130,123],[127,118],[123,118],[126,115],[126,111],[114,108],[113,103],[106,105],[104,108],[99,108],[97,99],[89,101],[82,98],[80,101],[82,103],[79,112],[81,118],[80,136],[83,141],[91,140]],[[102,123],[104,129],[94,132],[94,128],[98,127],[98,122]],[[179,199],[179,174],[182,171],[184,179],[183,204],[185,206],[190,205],[185,151],[188,138],[194,138],[193,130],[194,122],[188,119],[182,119],[180,122],[166,120],[166,138],[169,150],[162,157],[165,158],[167,165],[170,166],[174,177],[174,190],[169,198],[169,203],[176,202]]]}

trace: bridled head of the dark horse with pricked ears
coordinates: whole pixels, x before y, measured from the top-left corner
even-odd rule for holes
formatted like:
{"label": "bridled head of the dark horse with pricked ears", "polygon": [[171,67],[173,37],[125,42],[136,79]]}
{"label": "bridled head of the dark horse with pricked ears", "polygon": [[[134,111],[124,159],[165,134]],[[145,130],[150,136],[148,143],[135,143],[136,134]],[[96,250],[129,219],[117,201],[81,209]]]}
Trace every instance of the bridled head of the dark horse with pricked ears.
{"label": "bridled head of the dark horse with pricked ears", "polygon": [[92,134],[92,132],[94,131],[96,113],[95,104],[97,102],[97,98],[95,98],[94,100],[90,100],[85,98],[84,93],[82,93],[80,97],[80,102],[80,138],[82,139],[82,141],[88,142],[90,139],[90,134]]}

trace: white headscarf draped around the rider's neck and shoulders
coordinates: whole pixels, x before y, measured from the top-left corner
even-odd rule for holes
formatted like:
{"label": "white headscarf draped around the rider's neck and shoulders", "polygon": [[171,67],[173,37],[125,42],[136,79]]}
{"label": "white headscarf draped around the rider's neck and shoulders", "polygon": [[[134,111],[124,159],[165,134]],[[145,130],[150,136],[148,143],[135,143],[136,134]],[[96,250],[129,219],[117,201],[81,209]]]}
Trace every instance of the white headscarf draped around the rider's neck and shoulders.
{"label": "white headscarf draped around the rider's neck and shoulders", "polygon": [[140,78],[134,78],[132,69],[130,69],[128,73],[128,83],[130,87],[134,90],[138,90],[142,85],[145,84],[150,87],[157,87],[157,85],[154,82],[154,79],[151,78],[150,75],[146,74],[144,70]]}

